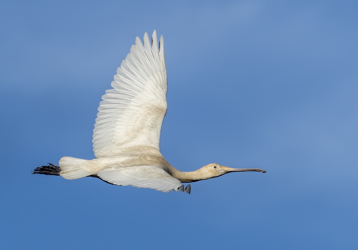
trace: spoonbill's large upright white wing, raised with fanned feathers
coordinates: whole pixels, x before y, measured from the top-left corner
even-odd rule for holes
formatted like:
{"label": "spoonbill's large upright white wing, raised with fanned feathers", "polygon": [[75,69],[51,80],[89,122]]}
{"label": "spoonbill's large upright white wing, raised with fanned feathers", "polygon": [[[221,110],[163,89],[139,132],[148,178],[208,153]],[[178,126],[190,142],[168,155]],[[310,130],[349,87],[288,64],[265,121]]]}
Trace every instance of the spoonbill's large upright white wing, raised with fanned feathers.
{"label": "spoonbill's large upright white wing, raised with fanned feathers", "polygon": [[159,150],[168,88],[163,36],[159,48],[156,31],[151,41],[144,34],[144,46],[137,37],[111,86],[98,107],[92,140],[95,156],[114,157],[139,145]]}

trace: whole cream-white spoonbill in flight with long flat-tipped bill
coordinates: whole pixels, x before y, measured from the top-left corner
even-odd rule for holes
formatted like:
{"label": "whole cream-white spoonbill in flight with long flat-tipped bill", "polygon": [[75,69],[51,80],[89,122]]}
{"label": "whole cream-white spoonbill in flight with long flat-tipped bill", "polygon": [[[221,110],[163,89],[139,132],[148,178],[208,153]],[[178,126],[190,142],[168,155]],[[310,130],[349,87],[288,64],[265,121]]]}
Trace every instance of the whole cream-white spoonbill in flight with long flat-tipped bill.
{"label": "whole cream-white spoonbill in flight with long flat-tipped bill", "polygon": [[166,114],[167,77],[163,36],[156,31],[144,46],[137,37],[130,53],[117,69],[113,89],[102,96],[93,130],[93,151],[97,159],[62,157],[59,166],[37,167],[33,174],[61,175],[74,180],[97,177],[118,186],[148,187],[162,192],[184,191],[185,182],[211,179],[229,172],[259,171],[233,169],[216,163],[193,172],[181,172],[160,153],[160,130]]}

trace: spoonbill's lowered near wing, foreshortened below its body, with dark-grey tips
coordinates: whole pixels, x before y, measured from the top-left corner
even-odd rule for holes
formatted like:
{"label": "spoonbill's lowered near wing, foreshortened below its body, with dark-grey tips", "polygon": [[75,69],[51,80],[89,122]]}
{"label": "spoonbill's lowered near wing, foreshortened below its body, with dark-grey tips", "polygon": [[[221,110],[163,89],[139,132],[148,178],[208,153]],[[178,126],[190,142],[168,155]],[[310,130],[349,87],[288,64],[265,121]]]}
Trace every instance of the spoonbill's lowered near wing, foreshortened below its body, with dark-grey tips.
{"label": "spoonbill's lowered near wing, foreshortened below its body, with dark-grey tips", "polygon": [[162,192],[180,190],[182,183],[156,166],[109,166],[97,172],[102,180],[118,186],[147,187]]}

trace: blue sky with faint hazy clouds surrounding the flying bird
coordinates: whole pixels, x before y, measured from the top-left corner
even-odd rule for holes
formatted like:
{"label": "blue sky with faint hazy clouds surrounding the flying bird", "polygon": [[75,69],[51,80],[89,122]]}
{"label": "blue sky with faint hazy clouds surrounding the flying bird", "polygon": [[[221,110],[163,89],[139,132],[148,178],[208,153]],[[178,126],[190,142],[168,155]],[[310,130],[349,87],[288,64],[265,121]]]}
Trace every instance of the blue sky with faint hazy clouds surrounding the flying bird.
{"label": "blue sky with faint hazy clouds surrounding the flying bird", "polygon": [[[2,249],[357,249],[357,1],[1,1]],[[93,159],[98,103],[163,34],[161,152],[261,168],[192,194],[30,175]]]}

